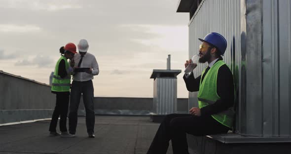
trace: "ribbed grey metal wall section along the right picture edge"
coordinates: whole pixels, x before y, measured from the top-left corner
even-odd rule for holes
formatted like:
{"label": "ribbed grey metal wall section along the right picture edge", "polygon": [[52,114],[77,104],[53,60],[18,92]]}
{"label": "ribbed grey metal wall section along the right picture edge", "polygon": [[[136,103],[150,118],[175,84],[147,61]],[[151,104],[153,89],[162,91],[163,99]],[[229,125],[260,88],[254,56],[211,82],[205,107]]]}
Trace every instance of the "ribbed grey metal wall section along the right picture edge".
{"label": "ribbed grey metal wall section along the right picture edge", "polygon": [[291,135],[291,1],[262,1],[262,133]]}

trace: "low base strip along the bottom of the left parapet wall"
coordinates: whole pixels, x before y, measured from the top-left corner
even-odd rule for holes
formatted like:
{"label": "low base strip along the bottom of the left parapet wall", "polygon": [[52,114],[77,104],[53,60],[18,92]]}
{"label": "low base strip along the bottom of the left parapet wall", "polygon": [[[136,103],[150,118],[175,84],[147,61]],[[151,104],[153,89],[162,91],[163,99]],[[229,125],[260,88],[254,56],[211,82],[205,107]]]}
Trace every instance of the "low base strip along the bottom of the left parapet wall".
{"label": "low base strip along the bottom of the left parapet wall", "polygon": [[53,110],[0,110],[0,124],[51,118]]}

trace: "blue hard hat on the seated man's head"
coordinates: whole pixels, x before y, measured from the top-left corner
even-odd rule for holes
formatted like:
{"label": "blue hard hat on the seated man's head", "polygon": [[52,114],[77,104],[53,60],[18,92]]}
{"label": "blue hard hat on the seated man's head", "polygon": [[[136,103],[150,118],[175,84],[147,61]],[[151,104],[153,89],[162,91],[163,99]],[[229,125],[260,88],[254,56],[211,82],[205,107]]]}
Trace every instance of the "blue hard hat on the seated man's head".
{"label": "blue hard hat on the seated man's head", "polygon": [[208,35],[205,36],[204,39],[199,39],[199,40],[205,41],[217,47],[221,55],[224,54],[225,49],[227,47],[226,39],[222,35],[215,32],[209,33]]}

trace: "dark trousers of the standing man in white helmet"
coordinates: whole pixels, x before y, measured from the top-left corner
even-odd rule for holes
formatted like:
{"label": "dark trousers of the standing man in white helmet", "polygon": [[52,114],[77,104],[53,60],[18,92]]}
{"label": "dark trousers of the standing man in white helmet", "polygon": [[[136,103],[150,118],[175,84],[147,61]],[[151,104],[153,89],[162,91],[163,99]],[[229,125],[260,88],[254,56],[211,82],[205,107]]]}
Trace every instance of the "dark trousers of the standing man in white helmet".
{"label": "dark trousers of the standing man in white helmet", "polygon": [[69,131],[75,134],[78,121],[78,108],[80,104],[81,94],[83,94],[83,102],[86,110],[86,126],[88,133],[94,133],[95,112],[94,112],[94,88],[92,80],[89,81],[73,81],[71,87],[71,102],[69,114]]}

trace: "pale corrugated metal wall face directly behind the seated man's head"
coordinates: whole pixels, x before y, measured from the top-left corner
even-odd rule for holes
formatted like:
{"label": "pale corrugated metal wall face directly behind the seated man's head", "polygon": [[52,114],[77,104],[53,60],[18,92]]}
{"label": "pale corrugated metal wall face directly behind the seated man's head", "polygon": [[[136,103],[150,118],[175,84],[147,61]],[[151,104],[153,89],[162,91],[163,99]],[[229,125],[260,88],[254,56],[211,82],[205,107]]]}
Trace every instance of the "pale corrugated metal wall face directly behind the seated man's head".
{"label": "pale corrugated metal wall face directly behind the seated man's head", "polygon": [[[201,41],[208,33],[217,32],[227,40],[224,61],[239,84],[240,67],[240,0],[203,0],[189,23],[189,58],[199,51]],[[198,64],[194,77],[201,75],[207,64]],[[189,92],[189,108],[198,107],[197,92]]]}

